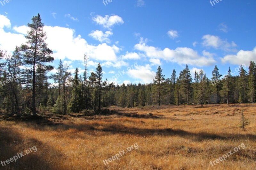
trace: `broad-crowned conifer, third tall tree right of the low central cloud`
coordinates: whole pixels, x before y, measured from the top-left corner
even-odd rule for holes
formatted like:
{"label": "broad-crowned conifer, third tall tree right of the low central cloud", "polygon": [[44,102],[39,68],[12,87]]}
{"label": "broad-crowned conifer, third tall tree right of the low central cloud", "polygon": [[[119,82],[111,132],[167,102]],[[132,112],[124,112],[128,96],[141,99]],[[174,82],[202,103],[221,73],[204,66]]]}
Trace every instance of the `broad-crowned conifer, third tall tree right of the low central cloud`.
{"label": "broad-crowned conifer, third tall tree right of the low central cloud", "polygon": [[191,89],[192,77],[191,77],[188,65],[186,65],[186,68],[181,72],[180,82],[181,82],[181,88],[186,93],[186,96],[187,96],[187,105],[189,105],[189,97],[192,91]]}

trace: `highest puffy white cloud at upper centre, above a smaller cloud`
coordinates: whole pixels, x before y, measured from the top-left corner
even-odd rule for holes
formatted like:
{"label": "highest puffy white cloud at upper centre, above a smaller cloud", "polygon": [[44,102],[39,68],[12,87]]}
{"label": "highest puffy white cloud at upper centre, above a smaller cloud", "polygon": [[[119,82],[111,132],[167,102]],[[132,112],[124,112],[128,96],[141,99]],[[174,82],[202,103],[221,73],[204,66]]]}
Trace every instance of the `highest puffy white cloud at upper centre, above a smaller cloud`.
{"label": "highest puffy white cloud at upper centre, above a smaller cloud", "polygon": [[114,25],[124,24],[123,19],[118,15],[112,15],[110,17],[109,15],[106,15],[105,17],[96,15],[92,18],[92,20],[97,24],[102,25],[104,28],[108,28],[109,30],[111,30],[111,27]]}

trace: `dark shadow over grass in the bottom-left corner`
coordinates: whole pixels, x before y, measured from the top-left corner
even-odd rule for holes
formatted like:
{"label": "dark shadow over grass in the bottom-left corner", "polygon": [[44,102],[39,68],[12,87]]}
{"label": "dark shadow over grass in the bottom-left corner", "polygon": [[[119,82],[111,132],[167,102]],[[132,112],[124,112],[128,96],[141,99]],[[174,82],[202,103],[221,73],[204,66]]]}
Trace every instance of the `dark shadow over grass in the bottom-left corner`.
{"label": "dark shadow over grass in the bottom-left corner", "polygon": [[[9,164],[5,162],[6,166],[0,164],[0,169],[52,169],[51,164],[47,163],[42,155],[53,153],[53,156],[55,156],[55,154],[58,155],[58,151],[43,151],[42,146],[44,144],[41,141],[35,138],[23,137],[14,129],[15,128],[2,127],[0,125],[0,161],[4,162],[7,159],[17,156],[17,153],[21,152],[23,152],[24,156],[18,158],[16,162],[13,161]],[[26,154],[25,151],[33,146],[36,146],[37,151],[34,152],[34,150],[31,149],[32,152]]]}

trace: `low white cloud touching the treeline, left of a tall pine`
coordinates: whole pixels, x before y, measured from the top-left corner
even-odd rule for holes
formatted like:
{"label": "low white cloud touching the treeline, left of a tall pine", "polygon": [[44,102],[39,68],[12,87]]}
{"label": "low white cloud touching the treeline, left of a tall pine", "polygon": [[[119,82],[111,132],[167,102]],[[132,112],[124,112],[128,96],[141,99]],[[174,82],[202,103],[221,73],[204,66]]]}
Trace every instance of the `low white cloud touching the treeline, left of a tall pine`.
{"label": "low white cloud touching the treeline, left of a tall pine", "polygon": [[143,83],[150,83],[155,78],[156,73],[151,71],[150,65],[136,66],[134,69],[128,70],[127,74],[134,79],[138,79]]}

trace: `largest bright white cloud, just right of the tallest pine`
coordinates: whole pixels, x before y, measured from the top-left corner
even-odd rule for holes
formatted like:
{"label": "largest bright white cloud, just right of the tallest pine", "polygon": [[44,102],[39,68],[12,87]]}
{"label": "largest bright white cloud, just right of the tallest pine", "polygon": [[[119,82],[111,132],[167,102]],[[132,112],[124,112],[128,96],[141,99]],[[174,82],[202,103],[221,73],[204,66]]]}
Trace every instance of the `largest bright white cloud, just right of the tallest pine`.
{"label": "largest bright white cloud, just right of the tallest pine", "polygon": [[[84,60],[83,55],[87,53],[91,60],[116,62],[116,52],[119,48],[115,45],[108,46],[106,43],[93,46],[87,43],[81,35],[75,36],[75,30],[59,26],[44,26],[47,33],[48,47],[52,49],[55,58],[69,60]],[[65,36],[63,36],[65,35]],[[72,50],[70,50],[72,49]]]}

